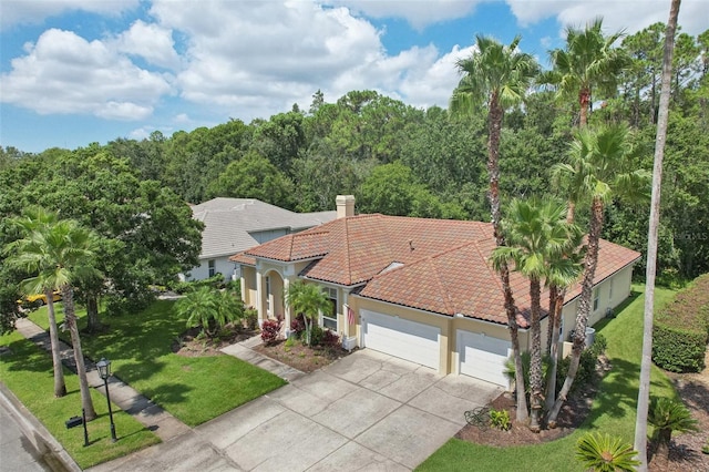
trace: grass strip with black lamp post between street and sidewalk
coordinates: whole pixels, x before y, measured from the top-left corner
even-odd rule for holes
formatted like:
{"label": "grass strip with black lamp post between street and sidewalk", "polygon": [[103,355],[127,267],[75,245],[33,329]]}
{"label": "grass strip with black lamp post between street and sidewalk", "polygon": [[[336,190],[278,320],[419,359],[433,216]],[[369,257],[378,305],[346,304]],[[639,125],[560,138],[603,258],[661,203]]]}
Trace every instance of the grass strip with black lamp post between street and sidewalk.
{"label": "grass strip with black lamp post between street and sidewalk", "polygon": [[106,399],[91,389],[99,417],[86,424],[90,445],[84,448],[82,427],[68,430],[64,424],[71,417],[81,417],[79,378],[64,369],[68,394],[55,399],[52,359],[45,351],[18,332],[0,337],[0,345],[9,349],[0,356],[2,382],[44,424],[82,469],[160,442],[160,438],[152,431],[115,406],[113,420],[119,441],[111,442]]}

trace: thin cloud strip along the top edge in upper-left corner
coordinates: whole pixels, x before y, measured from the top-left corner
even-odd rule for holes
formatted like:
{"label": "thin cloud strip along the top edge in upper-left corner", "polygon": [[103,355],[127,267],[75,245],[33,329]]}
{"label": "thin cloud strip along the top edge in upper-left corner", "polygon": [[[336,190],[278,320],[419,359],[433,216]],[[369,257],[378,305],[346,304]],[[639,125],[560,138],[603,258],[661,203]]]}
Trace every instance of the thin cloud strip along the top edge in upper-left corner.
{"label": "thin cloud strip along the top edge in upper-left corner", "polygon": [[140,0],[2,0],[0,28],[4,30],[16,24],[37,24],[48,17],[78,10],[120,16],[138,3]]}

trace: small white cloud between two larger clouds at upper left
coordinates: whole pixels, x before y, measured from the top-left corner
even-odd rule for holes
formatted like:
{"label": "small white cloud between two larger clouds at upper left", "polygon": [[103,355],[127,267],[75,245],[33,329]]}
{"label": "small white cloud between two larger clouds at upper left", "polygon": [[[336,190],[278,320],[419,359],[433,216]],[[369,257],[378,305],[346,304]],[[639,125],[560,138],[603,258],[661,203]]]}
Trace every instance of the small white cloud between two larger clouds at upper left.
{"label": "small white cloud between two larger clouds at upper left", "polygon": [[138,55],[150,64],[173,70],[179,66],[179,57],[174,45],[171,30],[142,20],[134,22],[116,38],[119,51]]}

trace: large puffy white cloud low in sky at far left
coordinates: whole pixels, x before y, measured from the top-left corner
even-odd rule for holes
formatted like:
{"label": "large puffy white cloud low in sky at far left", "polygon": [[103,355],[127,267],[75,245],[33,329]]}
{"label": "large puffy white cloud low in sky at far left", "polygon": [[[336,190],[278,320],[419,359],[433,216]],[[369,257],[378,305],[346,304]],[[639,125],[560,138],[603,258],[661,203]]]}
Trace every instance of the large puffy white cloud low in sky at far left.
{"label": "large puffy white cloud low in sky at far left", "polygon": [[169,75],[140,69],[104,42],[71,31],[47,30],[25,49],[0,75],[1,100],[40,114],[140,120],[171,91]]}

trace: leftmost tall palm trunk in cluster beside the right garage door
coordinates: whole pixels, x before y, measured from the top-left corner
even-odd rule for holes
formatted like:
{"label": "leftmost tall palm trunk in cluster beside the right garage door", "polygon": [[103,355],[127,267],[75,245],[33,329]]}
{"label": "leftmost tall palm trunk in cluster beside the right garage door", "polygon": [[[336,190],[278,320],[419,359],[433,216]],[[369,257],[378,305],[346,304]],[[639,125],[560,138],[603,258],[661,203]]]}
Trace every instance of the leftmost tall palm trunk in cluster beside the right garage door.
{"label": "leftmost tall palm trunk in cluster beside the right garage door", "polygon": [[[490,209],[492,226],[495,236],[495,245],[504,246],[505,240],[502,235],[501,212],[500,212],[500,135],[504,110],[500,106],[499,96],[493,93],[490,99],[490,115],[487,122],[487,173],[490,175]],[[505,312],[507,315],[507,329],[512,342],[512,355],[515,365],[515,387],[517,390],[517,412],[516,420],[526,422],[528,418],[526,392],[524,391],[524,368],[522,366],[522,355],[520,352],[520,336],[517,326],[517,309],[514,305],[514,296],[510,286],[510,269],[503,263],[500,267],[500,280],[505,299]]]}

